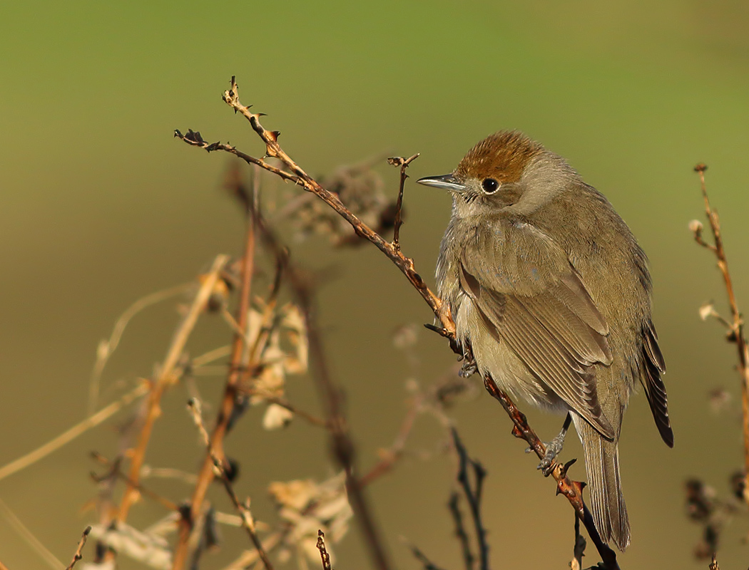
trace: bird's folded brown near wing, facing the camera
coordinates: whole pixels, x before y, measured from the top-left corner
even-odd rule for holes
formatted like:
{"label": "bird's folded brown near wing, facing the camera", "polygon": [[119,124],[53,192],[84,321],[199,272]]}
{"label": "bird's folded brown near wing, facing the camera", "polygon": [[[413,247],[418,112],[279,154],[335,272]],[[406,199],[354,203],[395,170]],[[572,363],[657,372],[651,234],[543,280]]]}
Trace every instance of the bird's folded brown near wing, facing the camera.
{"label": "bird's folded brown near wing, facing the camera", "polygon": [[565,251],[522,222],[483,224],[474,237],[461,254],[461,288],[488,329],[537,379],[613,439],[592,369],[612,362],[608,325]]}

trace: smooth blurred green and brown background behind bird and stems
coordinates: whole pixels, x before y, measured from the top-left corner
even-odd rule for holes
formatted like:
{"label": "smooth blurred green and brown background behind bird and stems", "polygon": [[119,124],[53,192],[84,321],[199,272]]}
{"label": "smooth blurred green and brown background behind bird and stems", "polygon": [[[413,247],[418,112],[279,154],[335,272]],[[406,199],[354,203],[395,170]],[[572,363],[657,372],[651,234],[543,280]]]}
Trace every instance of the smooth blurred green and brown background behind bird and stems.
{"label": "smooth blurred green and brown background behind bird and stems", "polygon": [[[243,219],[220,191],[228,156],[172,138],[175,128],[199,129],[209,141],[261,153],[246,122],[220,99],[236,75],[243,102],[269,114],[265,126],[282,130],[285,150],[313,174],[383,151],[422,153],[413,179],[445,174],[485,135],[517,128],[607,194],[651,260],[676,432],[668,450],[645,398],[634,398],[620,445],[632,523],[621,564],[706,567],[692,557],[699,528],[685,518],[682,483],[700,476],[727,494],[728,476],[742,465],[742,440],[735,349],[715,322],[697,315],[711,298],[726,312],[721,280],[687,224],[701,215],[692,167],[704,161],[739,302],[749,306],[748,30],[749,4],[736,0],[4,3],[0,465],[85,417],[97,343],[124,308],[189,281],[217,253],[240,252]],[[395,194],[395,170],[380,171]],[[406,203],[402,243],[431,283],[449,197],[410,183]],[[431,322],[431,315],[375,248],[332,251],[313,239],[294,256],[336,268],[338,278],[321,291],[321,319],[367,468],[395,436],[404,380],[414,373],[393,348],[392,333],[404,323]],[[151,374],[176,322],[174,303],[136,318],[104,375],[104,401],[118,382]],[[228,338],[216,319],[202,323],[193,354]],[[426,331],[416,350],[425,384],[454,362]],[[201,386],[210,392],[210,383],[217,390],[221,381]],[[733,407],[715,414],[708,393],[721,386],[733,394]],[[293,401],[315,410],[308,381],[292,380],[289,390]],[[169,394],[148,455],[152,465],[197,465],[185,399],[183,389]],[[557,433],[561,418],[524,408],[542,435]],[[113,456],[115,426],[126,415],[0,482],[0,497],[65,563],[94,518],[82,512],[95,493],[86,454]],[[494,566],[565,568],[571,509],[509,435],[505,414],[482,396],[458,406],[455,417],[470,453],[488,469],[484,512]],[[260,430],[256,413],[229,445],[246,458],[238,490],[270,518],[267,482],[324,478],[331,464],[323,435],[303,423]],[[434,448],[443,433],[422,420],[416,436],[415,449]],[[579,446],[568,442],[565,456],[575,456]],[[583,476],[582,467],[574,469]],[[399,568],[420,566],[400,536],[440,566],[460,567],[445,508],[452,477],[444,456],[406,459],[372,487]],[[190,491],[160,490],[177,500]],[[213,495],[228,510],[219,491]],[[141,503],[130,520],[143,527],[161,515]],[[747,565],[747,530],[739,517],[727,531],[722,567]],[[225,535],[232,548],[246,545],[239,531]],[[356,532],[336,551],[340,569],[368,566]],[[205,568],[229,560],[212,556]],[[594,558],[591,551],[587,560]],[[0,560],[15,570],[42,565],[4,519]],[[121,565],[136,567],[124,559]]]}

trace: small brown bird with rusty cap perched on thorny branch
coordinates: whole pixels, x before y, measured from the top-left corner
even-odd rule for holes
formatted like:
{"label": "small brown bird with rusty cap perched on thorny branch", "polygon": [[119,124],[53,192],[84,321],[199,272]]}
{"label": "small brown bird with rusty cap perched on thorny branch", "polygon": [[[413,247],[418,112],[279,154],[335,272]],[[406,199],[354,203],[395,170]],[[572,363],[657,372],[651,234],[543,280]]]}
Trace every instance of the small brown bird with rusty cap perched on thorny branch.
{"label": "small brown bird with rusty cap perched on thorny branch", "polygon": [[[637,379],[673,447],[643,250],[603,194],[520,132],[485,138],[452,174],[419,183],[452,192],[437,290],[470,360],[464,372],[571,414],[595,526],[625,550],[617,442]],[[539,468],[551,465],[564,433]]]}

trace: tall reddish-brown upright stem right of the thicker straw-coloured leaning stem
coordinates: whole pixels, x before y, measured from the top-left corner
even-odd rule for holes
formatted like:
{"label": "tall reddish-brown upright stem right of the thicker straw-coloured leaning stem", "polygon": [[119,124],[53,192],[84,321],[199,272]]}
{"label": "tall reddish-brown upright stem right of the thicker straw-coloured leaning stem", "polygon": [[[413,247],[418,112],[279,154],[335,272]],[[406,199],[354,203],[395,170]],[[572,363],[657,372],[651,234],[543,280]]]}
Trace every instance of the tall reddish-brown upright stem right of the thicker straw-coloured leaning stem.
{"label": "tall reddish-brown upright stem right of the thicker straw-coloured leaning stem", "polygon": [[[241,289],[236,319],[238,330],[234,332],[234,342],[231,346],[231,365],[226,379],[219,416],[216,420],[216,426],[213,428],[213,433],[210,436],[210,450],[213,450],[213,453],[216,453],[216,456],[222,459],[224,456],[223,440],[229,419],[231,418],[231,411],[234,409],[234,402],[237,398],[237,387],[240,384],[243,370],[242,355],[246,345],[245,331],[247,328],[252,273],[255,263],[255,221],[253,218],[254,216],[252,215],[248,218],[246,245],[240,270]],[[180,521],[180,536],[175,548],[175,558],[172,565],[174,570],[183,569],[187,561],[189,536],[195,520],[197,520],[201,513],[205,494],[211,481],[213,481],[213,459],[210,457],[210,453],[207,453],[198,474],[198,482],[195,483],[195,489],[192,491],[189,518],[184,517]]]}

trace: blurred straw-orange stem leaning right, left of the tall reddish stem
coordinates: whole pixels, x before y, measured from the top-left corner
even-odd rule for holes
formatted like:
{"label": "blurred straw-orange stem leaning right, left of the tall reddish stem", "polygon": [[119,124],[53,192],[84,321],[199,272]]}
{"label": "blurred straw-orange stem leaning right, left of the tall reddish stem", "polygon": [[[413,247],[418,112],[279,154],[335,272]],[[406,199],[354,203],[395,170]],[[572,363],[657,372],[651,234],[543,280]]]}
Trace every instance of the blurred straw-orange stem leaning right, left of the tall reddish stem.
{"label": "blurred straw-orange stem leaning right, left of the tall reddish stem", "polygon": [[156,423],[157,417],[161,414],[161,396],[166,388],[175,381],[175,367],[184,352],[187,338],[192,332],[192,329],[195,328],[198,316],[205,309],[210,295],[213,293],[213,289],[215,289],[216,283],[219,281],[220,272],[224,269],[227,261],[228,257],[225,255],[219,255],[216,257],[216,260],[213,261],[213,266],[210,268],[210,272],[202,281],[201,287],[198,289],[198,294],[195,295],[192,305],[189,307],[187,316],[172,340],[172,345],[169,347],[169,351],[167,352],[166,358],[161,367],[159,378],[151,384],[151,392],[148,394],[148,402],[146,403],[145,420],[140,431],[138,445],[133,452],[133,458],[130,460],[129,482],[122,496],[122,502],[120,503],[120,509],[117,515],[118,522],[124,522],[127,520],[127,513],[130,511],[130,506],[132,506],[133,501],[136,500],[136,497],[138,496],[138,491],[133,485],[137,484],[140,479],[140,470],[145,459],[145,451],[148,447],[148,441],[151,440],[151,430],[154,427],[154,423]]}

